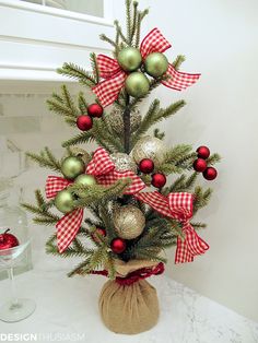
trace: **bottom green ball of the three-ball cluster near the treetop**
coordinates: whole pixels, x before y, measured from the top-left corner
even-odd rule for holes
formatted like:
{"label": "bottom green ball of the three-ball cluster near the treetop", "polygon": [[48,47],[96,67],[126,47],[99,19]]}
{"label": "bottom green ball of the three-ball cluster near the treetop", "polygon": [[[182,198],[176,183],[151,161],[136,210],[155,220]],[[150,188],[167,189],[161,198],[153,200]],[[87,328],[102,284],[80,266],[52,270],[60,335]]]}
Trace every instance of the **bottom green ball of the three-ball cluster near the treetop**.
{"label": "bottom green ball of the three-ball cluster near the treetop", "polygon": [[150,90],[150,82],[143,73],[137,71],[127,76],[126,90],[133,97],[143,97]]}

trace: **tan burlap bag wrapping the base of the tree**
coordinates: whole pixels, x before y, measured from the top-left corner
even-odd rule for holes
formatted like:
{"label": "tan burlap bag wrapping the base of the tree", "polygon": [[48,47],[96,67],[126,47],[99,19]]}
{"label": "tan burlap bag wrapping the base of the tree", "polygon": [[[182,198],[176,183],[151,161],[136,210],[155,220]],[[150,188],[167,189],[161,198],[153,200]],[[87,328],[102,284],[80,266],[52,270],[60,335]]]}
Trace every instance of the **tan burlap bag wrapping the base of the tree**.
{"label": "tan burlap bag wrapping the base of the tree", "polygon": [[[143,260],[127,263],[117,260],[117,276],[125,277],[138,269],[156,264]],[[107,281],[102,288],[98,305],[103,322],[116,333],[134,334],[150,330],[156,324],[160,314],[156,289],[145,280],[131,285]]]}

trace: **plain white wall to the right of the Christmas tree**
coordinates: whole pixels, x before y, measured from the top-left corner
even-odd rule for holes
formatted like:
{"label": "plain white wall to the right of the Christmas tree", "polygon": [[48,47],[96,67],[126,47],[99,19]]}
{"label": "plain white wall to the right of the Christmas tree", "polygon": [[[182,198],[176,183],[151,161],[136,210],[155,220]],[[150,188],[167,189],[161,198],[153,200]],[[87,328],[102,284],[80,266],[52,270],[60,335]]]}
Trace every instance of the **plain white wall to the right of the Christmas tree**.
{"label": "plain white wall to the right of the Christmas tree", "polygon": [[[118,5],[118,0],[116,0]],[[206,144],[220,152],[210,205],[199,213],[211,248],[194,263],[166,271],[173,279],[258,320],[258,2],[257,0],[144,0],[148,29],[161,28],[173,44],[169,58],[184,54],[181,70],[200,71],[199,83],[178,94],[160,87],[166,106],[184,97],[187,107],[162,127],[167,143]],[[146,32],[146,31],[145,31]]]}

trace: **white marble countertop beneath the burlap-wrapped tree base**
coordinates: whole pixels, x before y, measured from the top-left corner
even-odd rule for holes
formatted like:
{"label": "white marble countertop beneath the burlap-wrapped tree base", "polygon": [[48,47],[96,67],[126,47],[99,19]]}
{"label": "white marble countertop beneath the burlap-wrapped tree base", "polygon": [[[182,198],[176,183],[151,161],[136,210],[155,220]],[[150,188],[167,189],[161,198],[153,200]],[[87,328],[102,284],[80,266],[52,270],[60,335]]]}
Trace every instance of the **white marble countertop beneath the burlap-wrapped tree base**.
{"label": "white marble countertop beneath the burlap-wrapped tree base", "polygon": [[[153,276],[150,281],[160,298],[157,326],[138,335],[120,335],[108,331],[98,316],[97,299],[105,282],[103,276],[68,279],[63,269],[58,271],[38,261],[34,271],[16,277],[20,296],[34,298],[36,311],[17,323],[0,322],[0,333],[48,333],[56,339],[58,334],[77,333],[84,336],[80,342],[87,343],[258,342],[257,323],[166,275]],[[0,304],[9,292],[8,285],[8,281],[0,282]],[[68,342],[67,338],[61,342]]]}

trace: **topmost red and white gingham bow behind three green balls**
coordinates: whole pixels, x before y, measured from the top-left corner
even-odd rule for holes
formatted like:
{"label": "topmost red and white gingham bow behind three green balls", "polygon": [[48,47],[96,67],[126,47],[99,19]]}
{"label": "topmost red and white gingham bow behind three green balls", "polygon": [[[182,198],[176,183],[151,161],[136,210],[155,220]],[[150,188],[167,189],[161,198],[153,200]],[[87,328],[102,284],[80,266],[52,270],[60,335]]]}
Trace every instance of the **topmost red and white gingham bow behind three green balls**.
{"label": "topmost red and white gingham bow behind three green balls", "polygon": [[[161,34],[159,28],[153,28],[142,40],[140,52],[144,60],[152,52],[164,52],[171,48],[169,42]],[[103,107],[113,104],[121,91],[127,73],[121,69],[118,61],[105,55],[97,56],[97,67],[101,76],[105,79],[96,86],[93,92],[96,94]],[[200,74],[189,74],[177,71],[173,64],[168,64],[168,70],[165,75],[169,78],[162,83],[173,90],[181,91],[194,84]]]}

